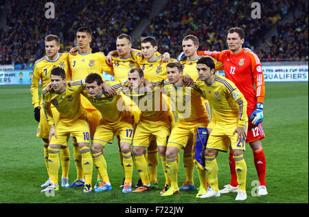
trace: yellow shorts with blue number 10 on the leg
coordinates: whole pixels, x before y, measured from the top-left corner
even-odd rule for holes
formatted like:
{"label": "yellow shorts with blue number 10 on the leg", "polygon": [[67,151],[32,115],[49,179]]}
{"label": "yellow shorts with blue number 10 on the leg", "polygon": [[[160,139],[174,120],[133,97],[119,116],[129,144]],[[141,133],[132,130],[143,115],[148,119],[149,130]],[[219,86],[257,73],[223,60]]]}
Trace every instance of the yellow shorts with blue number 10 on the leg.
{"label": "yellow shorts with blue number 10 on the leg", "polygon": [[61,120],[55,125],[56,136],[52,136],[49,144],[67,146],[69,136],[74,136],[78,143],[89,143],[90,133],[87,120],[78,119],[70,126],[63,125]]}

